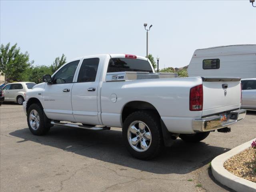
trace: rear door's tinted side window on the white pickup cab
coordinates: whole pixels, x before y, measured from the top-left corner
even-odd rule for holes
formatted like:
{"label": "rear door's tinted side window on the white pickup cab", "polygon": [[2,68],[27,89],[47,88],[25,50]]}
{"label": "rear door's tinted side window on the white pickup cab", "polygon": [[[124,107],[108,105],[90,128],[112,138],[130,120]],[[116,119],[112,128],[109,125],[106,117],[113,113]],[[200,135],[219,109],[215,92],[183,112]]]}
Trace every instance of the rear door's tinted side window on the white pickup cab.
{"label": "rear door's tinted side window on the white pickup cab", "polygon": [[99,62],[99,58],[84,59],[78,74],[77,82],[94,82]]}

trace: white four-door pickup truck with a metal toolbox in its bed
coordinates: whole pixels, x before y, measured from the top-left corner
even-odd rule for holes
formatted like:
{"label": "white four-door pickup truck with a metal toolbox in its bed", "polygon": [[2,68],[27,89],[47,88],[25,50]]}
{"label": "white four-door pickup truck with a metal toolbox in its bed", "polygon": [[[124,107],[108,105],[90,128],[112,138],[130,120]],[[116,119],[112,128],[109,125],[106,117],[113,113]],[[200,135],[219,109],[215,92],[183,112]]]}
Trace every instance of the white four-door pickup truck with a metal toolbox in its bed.
{"label": "white four-door pickup truck with a metal toolbox in its bed", "polygon": [[27,92],[28,127],[35,135],[53,125],[122,127],[130,154],[150,159],[177,137],[199,142],[244,119],[240,78],[175,75],[154,73],[147,58],[135,55],[76,58]]}

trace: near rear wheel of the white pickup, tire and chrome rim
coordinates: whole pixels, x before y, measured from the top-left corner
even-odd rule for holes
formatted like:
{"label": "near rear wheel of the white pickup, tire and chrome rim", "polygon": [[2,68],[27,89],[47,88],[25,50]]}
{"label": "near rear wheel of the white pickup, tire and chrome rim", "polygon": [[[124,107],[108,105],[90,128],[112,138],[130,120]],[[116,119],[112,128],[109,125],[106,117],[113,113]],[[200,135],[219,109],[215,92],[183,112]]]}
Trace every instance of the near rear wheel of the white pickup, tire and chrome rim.
{"label": "near rear wheel of the white pickup, tire and chrome rim", "polygon": [[156,157],[163,146],[160,118],[151,112],[130,114],[124,121],[122,135],[128,152],[138,159]]}

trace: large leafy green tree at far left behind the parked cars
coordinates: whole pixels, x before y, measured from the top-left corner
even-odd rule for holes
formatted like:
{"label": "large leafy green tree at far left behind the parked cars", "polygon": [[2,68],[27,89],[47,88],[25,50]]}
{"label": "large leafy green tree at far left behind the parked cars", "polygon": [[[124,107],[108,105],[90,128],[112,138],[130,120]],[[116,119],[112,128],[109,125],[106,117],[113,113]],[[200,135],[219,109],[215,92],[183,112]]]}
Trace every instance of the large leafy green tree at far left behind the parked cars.
{"label": "large leafy green tree at far left behind the parked cars", "polygon": [[34,61],[29,61],[28,52],[20,52],[17,43],[10,47],[10,43],[0,47],[0,72],[5,75],[7,81],[22,81],[22,73],[27,70]]}

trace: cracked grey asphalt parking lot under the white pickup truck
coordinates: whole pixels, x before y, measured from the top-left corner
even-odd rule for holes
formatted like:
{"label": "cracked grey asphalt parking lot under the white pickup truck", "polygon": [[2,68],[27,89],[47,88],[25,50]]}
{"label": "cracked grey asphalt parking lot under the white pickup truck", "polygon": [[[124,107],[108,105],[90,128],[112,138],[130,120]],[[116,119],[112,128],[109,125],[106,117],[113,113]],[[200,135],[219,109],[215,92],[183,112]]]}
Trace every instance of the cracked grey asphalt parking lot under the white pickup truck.
{"label": "cracked grey asphalt parking lot under the white pickup truck", "polygon": [[224,192],[232,190],[214,180],[208,163],[256,137],[256,112],[230,133],[212,132],[197,144],[177,139],[151,161],[132,158],[118,128],[54,126],[34,136],[17,104],[0,106],[0,134],[1,192]]}

